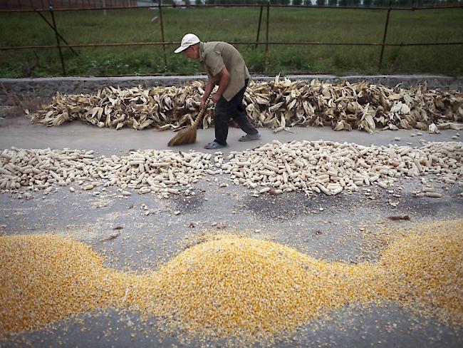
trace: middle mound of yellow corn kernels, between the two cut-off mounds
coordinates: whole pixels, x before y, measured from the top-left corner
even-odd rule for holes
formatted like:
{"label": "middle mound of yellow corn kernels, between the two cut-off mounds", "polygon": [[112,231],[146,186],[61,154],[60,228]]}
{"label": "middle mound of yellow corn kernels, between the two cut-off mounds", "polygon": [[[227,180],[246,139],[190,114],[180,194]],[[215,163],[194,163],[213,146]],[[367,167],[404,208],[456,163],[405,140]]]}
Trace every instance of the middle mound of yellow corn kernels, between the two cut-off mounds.
{"label": "middle mound of yellow corn kernels, between the two cut-off mounds", "polygon": [[363,279],[372,271],[371,265],[315,260],[274,242],[225,237],[175,257],[155,273],[151,287],[140,289],[136,303],[144,313],[177,318],[189,332],[267,336],[368,300]]}

